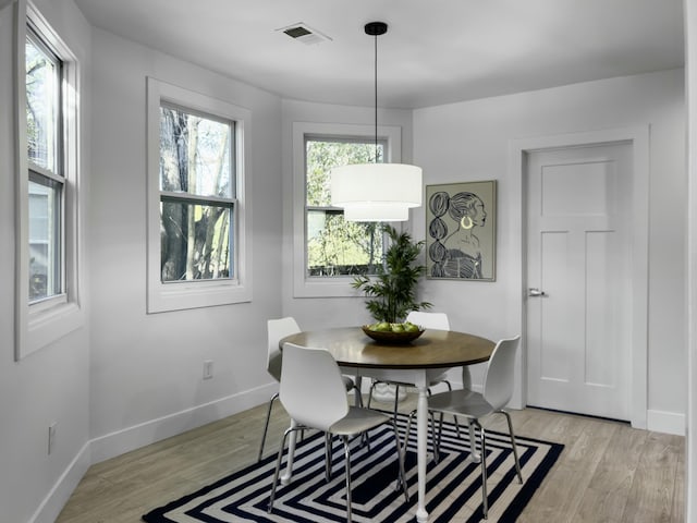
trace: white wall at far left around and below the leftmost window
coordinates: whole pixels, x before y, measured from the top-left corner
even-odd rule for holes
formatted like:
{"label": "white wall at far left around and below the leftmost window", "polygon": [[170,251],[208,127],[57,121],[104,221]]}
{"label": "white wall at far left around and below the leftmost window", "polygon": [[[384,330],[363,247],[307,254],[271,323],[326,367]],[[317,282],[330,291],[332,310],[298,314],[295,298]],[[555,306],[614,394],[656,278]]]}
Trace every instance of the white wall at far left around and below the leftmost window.
{"label": "white wall at far left around and below the leftmost window", "polygon": [[[89,25],[71,0],[39,0],[35,4],[77,56],[85,85],[89,75]],[[73,331],[21,362],[13,360],[13,7],[0,10],[0,520],[34,521],[37,514],[36,521],[52,521],[88,464],[84,453],[89,440],[88,328]],[[87,90],[82,104],[84,117],[89,108]],[[82,124],[89,135],[86,118]],[[83,161],[86,159],[83,149]],[[83,269],[86,275],[87,269]],[[83,293],[82,297],[86,306],[88,296]],[[49,455],[48,426],[54,422],[56,448]]]}

